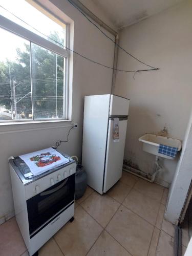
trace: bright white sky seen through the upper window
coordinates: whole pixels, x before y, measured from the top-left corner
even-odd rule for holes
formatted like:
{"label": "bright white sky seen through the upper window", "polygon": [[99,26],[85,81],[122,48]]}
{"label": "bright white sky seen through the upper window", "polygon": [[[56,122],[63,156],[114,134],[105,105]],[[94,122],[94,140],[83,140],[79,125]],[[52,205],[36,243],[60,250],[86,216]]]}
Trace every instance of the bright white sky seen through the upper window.
{"label": "bright white sky seen through the upper window", "polygon": [[[0,0],[0,5],[45,35],[49,35],[51,31],[57,31],[59,35],[63,34],[65,25],[61,27],[56,24],[52,19],[42,14],[25,0]],[[42,34],[14,17],[14,15],[10,14],[2,7],[0,7],[0,15],[42,36]],[[0,28],[0,61],[4,61],[6,58],[14,60],[16,48],[25,49],[24,42],[27,42],[27,40]]]}

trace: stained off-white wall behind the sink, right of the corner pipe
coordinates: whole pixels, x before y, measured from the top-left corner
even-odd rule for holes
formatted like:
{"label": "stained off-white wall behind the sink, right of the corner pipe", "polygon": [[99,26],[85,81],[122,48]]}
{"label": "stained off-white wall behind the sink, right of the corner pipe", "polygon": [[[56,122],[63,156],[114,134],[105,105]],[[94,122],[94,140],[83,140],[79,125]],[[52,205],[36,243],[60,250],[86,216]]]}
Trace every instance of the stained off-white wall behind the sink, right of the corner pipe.
{"label": "stained off-white wall behind the sink, right of the corner pipe", "polygon": [[[138,138],[167,126],[169,136],[183,139],[191,106],[192,1],[180,4],[120,32],[119,44],[159,71],[117,73],[115,94],[131,99],[126,159],[152,173],[155,156],[142,151]],[[146,69],[119,50],[118,68]],[[168,186],[177,160],[161,160],[165,169],[157,179]]]}

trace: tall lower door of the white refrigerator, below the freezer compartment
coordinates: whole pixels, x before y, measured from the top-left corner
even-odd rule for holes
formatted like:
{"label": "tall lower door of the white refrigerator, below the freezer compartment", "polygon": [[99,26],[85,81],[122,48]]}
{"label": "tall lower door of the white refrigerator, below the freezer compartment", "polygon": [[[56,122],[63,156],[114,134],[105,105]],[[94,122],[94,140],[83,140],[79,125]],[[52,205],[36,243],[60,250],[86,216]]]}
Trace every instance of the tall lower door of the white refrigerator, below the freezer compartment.
{"label": "tall lower door of the white refrigerator, below the freezer compartment", "polygon": [[113,141],[113,118],[109,120],[103,192],[108,191],[122,175],[127,119],[119,119],[119,142]]}

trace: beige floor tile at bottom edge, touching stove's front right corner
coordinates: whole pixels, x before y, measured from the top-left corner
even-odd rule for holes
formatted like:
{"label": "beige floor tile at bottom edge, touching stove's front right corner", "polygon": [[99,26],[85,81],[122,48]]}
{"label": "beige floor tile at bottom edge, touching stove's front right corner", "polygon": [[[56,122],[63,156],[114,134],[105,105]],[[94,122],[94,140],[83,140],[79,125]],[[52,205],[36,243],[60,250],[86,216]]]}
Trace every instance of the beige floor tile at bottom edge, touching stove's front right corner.
{"label": "beige floor tile at bottom edge, touching stove's front right corner", "polygon": [[103,228],[78,206],[75,220],[67,223],[54,236],[65,256],[84,256],[95,243]]}

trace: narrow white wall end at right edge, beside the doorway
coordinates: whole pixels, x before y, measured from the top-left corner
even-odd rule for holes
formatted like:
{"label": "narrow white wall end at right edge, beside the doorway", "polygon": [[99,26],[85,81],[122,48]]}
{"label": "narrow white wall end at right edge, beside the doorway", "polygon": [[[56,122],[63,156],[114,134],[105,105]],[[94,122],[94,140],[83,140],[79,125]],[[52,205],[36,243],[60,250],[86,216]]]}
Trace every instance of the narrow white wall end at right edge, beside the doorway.
{"label": "narrow white wall end at right edge, beside the doorway", "polygon": [[185,139],[183,141],[183,150],[178,161],[174,180],[169,189],[168,201],[165,211],[166,220],[173,224],[178,224],[189,187],[192,180],[191,172],[192,158],[192,113],[187,125]]}

